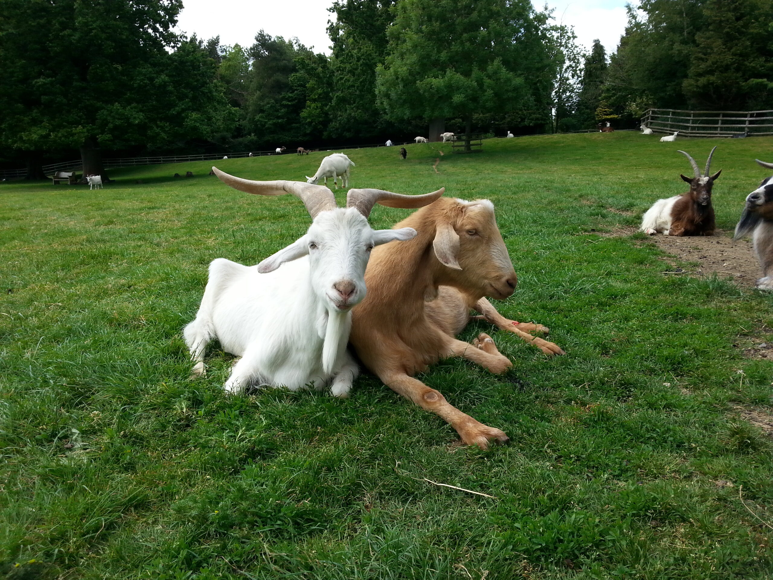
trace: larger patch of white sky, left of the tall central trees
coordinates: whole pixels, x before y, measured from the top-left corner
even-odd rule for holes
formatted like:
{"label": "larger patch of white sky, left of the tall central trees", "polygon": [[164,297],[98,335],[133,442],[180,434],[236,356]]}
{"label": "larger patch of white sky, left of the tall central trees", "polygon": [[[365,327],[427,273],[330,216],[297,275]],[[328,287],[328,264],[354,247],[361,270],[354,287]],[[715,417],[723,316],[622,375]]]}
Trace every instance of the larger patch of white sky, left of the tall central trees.
{"label": "larger patch of white sky, left of the tall central trees", "polygon": [[222,44],[252,46],[255,33],[295,36],[315,52],[329,54],[328,12],[332,0],[186,0],[177,29],[200,39],[220,35]]}

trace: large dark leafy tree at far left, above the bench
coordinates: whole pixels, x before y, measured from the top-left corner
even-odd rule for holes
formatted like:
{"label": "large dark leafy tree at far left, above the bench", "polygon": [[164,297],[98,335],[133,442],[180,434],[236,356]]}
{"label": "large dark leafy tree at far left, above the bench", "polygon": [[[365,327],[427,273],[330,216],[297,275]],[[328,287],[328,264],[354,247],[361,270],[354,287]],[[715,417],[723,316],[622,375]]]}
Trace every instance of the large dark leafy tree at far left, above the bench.
{"label": "large dark leafy tree at far left, above the bench", "polygon": [[16,151],[167,148],[231,120],[206,47],[172,32],[181,0],[3,0],[0,142]]}

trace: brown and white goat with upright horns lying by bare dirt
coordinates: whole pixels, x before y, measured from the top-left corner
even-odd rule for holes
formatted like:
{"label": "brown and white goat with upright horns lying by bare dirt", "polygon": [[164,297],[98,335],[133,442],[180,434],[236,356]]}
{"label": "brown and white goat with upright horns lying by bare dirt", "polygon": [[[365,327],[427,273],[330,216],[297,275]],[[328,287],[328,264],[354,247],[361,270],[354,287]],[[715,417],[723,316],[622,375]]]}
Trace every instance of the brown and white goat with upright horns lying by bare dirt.
{"label": "brown and white goat with upright horns lying by bare dirt", "polygon": [[679,176],[690,183],[690,191],[681,196],[657,200],[652,204],[642,217],[642,231],[650,235],[662,232],[665,236],[713,236],[716,220],[714,208],[711,206],[711,189],[722,172],[720,169],[713,176],[709,176],[714,149],[716,147],[709,153],[706,175],[703,176],[695,159],[690,157],[689,153],[679,151],[686,155],[687,159],[690,159],[690,165],[693,165],[695,177]]}

